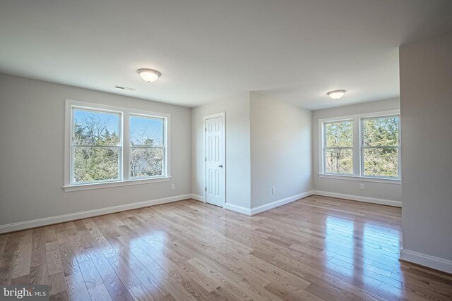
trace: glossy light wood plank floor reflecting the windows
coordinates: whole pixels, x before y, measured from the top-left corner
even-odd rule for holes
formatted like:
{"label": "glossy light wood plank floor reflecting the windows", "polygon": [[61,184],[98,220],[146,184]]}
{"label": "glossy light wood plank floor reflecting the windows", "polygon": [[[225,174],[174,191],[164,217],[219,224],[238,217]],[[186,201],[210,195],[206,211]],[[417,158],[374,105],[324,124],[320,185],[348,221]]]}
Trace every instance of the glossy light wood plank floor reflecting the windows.
{"label": "glossy light wood plank floor reflecting the windows", "polygon": [[249,217],[194,200],[0,235],[0,284],[61,300],[451,300],[398,262],[400,209],[311,196]]}

